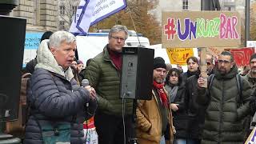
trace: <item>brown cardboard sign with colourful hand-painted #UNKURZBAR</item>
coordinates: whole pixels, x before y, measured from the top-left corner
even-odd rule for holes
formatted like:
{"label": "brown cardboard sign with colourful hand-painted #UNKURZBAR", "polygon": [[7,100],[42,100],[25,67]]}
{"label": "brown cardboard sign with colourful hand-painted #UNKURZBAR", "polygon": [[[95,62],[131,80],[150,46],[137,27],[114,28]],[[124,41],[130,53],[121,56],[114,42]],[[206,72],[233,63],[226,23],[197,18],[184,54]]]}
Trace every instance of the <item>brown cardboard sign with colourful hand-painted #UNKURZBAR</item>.
{"label": "brown cardboard sign with colourful hand-painted #UNKURZBAR", "polygon": [[238,47],[240,38],[237,12],[162,12],[162,47]]}

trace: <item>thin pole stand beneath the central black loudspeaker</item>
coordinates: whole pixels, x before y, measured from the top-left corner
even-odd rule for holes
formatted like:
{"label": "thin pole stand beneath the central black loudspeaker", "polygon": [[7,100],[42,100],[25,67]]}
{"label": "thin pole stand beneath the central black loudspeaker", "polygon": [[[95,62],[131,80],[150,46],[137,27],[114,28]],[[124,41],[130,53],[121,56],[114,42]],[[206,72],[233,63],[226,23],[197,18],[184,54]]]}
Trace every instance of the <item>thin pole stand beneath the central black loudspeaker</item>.
{"label": "thin pole stand beneath the central black loudspeaker", "polygon": [[131,126],[131,134],[129,138],[130,144],[138,144],[137,138],[136,138],[136,109],[137,109],[137,99],[134,99],[133,102],[133,115],[132,115],[132,126]]}

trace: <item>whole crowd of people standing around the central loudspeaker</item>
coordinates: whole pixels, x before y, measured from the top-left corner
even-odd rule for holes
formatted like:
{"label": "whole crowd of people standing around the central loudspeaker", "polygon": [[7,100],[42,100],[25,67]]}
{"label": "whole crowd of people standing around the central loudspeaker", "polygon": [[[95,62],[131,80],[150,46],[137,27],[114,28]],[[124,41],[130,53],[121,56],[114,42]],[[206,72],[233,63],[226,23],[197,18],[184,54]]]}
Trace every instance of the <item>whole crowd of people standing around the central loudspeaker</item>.
{"label": "whole crowd of people standing around the central loudspeaker", "polygon": [[[131,143],[134,131],[139,144],[234,144],[245,142],[256,122],[256,54],[244,76],[230,52],[215,63],[207,54],[207,80],[197,57],[187,58],[184,72],[154,58],[152,99],[137,101],[134,123],[133,100],[120,98],[126,26],[113,26],[102,53],[86,66],[75,58],[73,34],[47,32],[42,38],[25,70],[32,77],[23,143],[86,143],[83,125],[94,118],[99,144]],[[62,130],[66,135],[60,138]]]}

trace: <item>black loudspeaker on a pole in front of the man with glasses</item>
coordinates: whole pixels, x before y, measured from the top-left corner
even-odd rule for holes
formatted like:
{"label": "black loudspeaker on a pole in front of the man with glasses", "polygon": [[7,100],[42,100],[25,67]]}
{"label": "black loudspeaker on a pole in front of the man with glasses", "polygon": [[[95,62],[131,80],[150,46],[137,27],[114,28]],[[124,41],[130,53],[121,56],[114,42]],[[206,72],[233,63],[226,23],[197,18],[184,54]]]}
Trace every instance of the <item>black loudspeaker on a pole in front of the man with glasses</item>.
{"label": "black loudspeaker on a pole in front of the man with glasses", "polygon": [[122,48],[121,98],[151,99],[153,63],[154,49]]}

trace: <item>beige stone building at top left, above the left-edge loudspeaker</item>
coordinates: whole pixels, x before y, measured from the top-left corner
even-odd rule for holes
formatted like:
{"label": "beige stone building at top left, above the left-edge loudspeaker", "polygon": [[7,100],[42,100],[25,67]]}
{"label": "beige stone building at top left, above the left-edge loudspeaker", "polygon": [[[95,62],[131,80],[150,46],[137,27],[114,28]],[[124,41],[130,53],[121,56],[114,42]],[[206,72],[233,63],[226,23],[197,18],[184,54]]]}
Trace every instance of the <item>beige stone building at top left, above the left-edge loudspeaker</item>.
{"label": "beige stone building at top left, above the left-edge loudspeaker", "polygon": [[19,0],[11,16],[26,18],[26,31],[57,30],[58,0]]}

